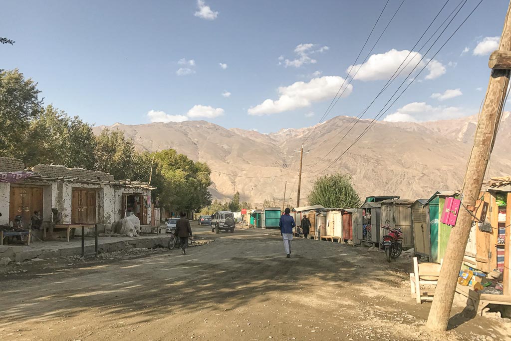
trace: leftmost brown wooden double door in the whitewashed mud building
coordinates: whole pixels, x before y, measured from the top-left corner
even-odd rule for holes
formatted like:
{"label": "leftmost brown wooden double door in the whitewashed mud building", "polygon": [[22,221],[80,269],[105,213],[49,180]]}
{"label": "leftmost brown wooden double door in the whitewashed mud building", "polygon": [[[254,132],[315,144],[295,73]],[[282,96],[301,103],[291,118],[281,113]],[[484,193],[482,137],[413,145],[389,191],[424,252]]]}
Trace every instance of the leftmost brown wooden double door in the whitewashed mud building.
{"label": "leftmost brown wooden double door in the whitewashed mud building", "polygon": [[28,229],[34,211],[42,211],[42,187],[12,187],[9,203],[9,221],[20,215],[23,227]]}

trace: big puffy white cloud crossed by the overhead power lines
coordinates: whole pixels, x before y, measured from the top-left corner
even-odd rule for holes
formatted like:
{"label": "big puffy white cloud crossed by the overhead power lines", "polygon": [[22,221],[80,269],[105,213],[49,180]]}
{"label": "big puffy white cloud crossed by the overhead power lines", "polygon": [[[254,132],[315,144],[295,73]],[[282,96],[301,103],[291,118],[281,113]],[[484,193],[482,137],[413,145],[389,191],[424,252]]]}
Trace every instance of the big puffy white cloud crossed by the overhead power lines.
{"label": "big puffy white cloud crossed by the overhead power lines", "polygon": [[[389,79],[396,72],[398,67],[401,75],[407,75],[415,70],[420,70],[426,64],[421,60],[422,55],[418,52],[392,49],[385,53],[371,55],[363,64],[350,65],[346,69],[348,76],[355,76],[355,79],[362,81]],[[352,67],[353,66],[353,67]],[[351,69],[351,72],[350,72]],[[446,73],[445,66],[433,59],[427,66],[429,74],[426,79],[434,79]]]}

